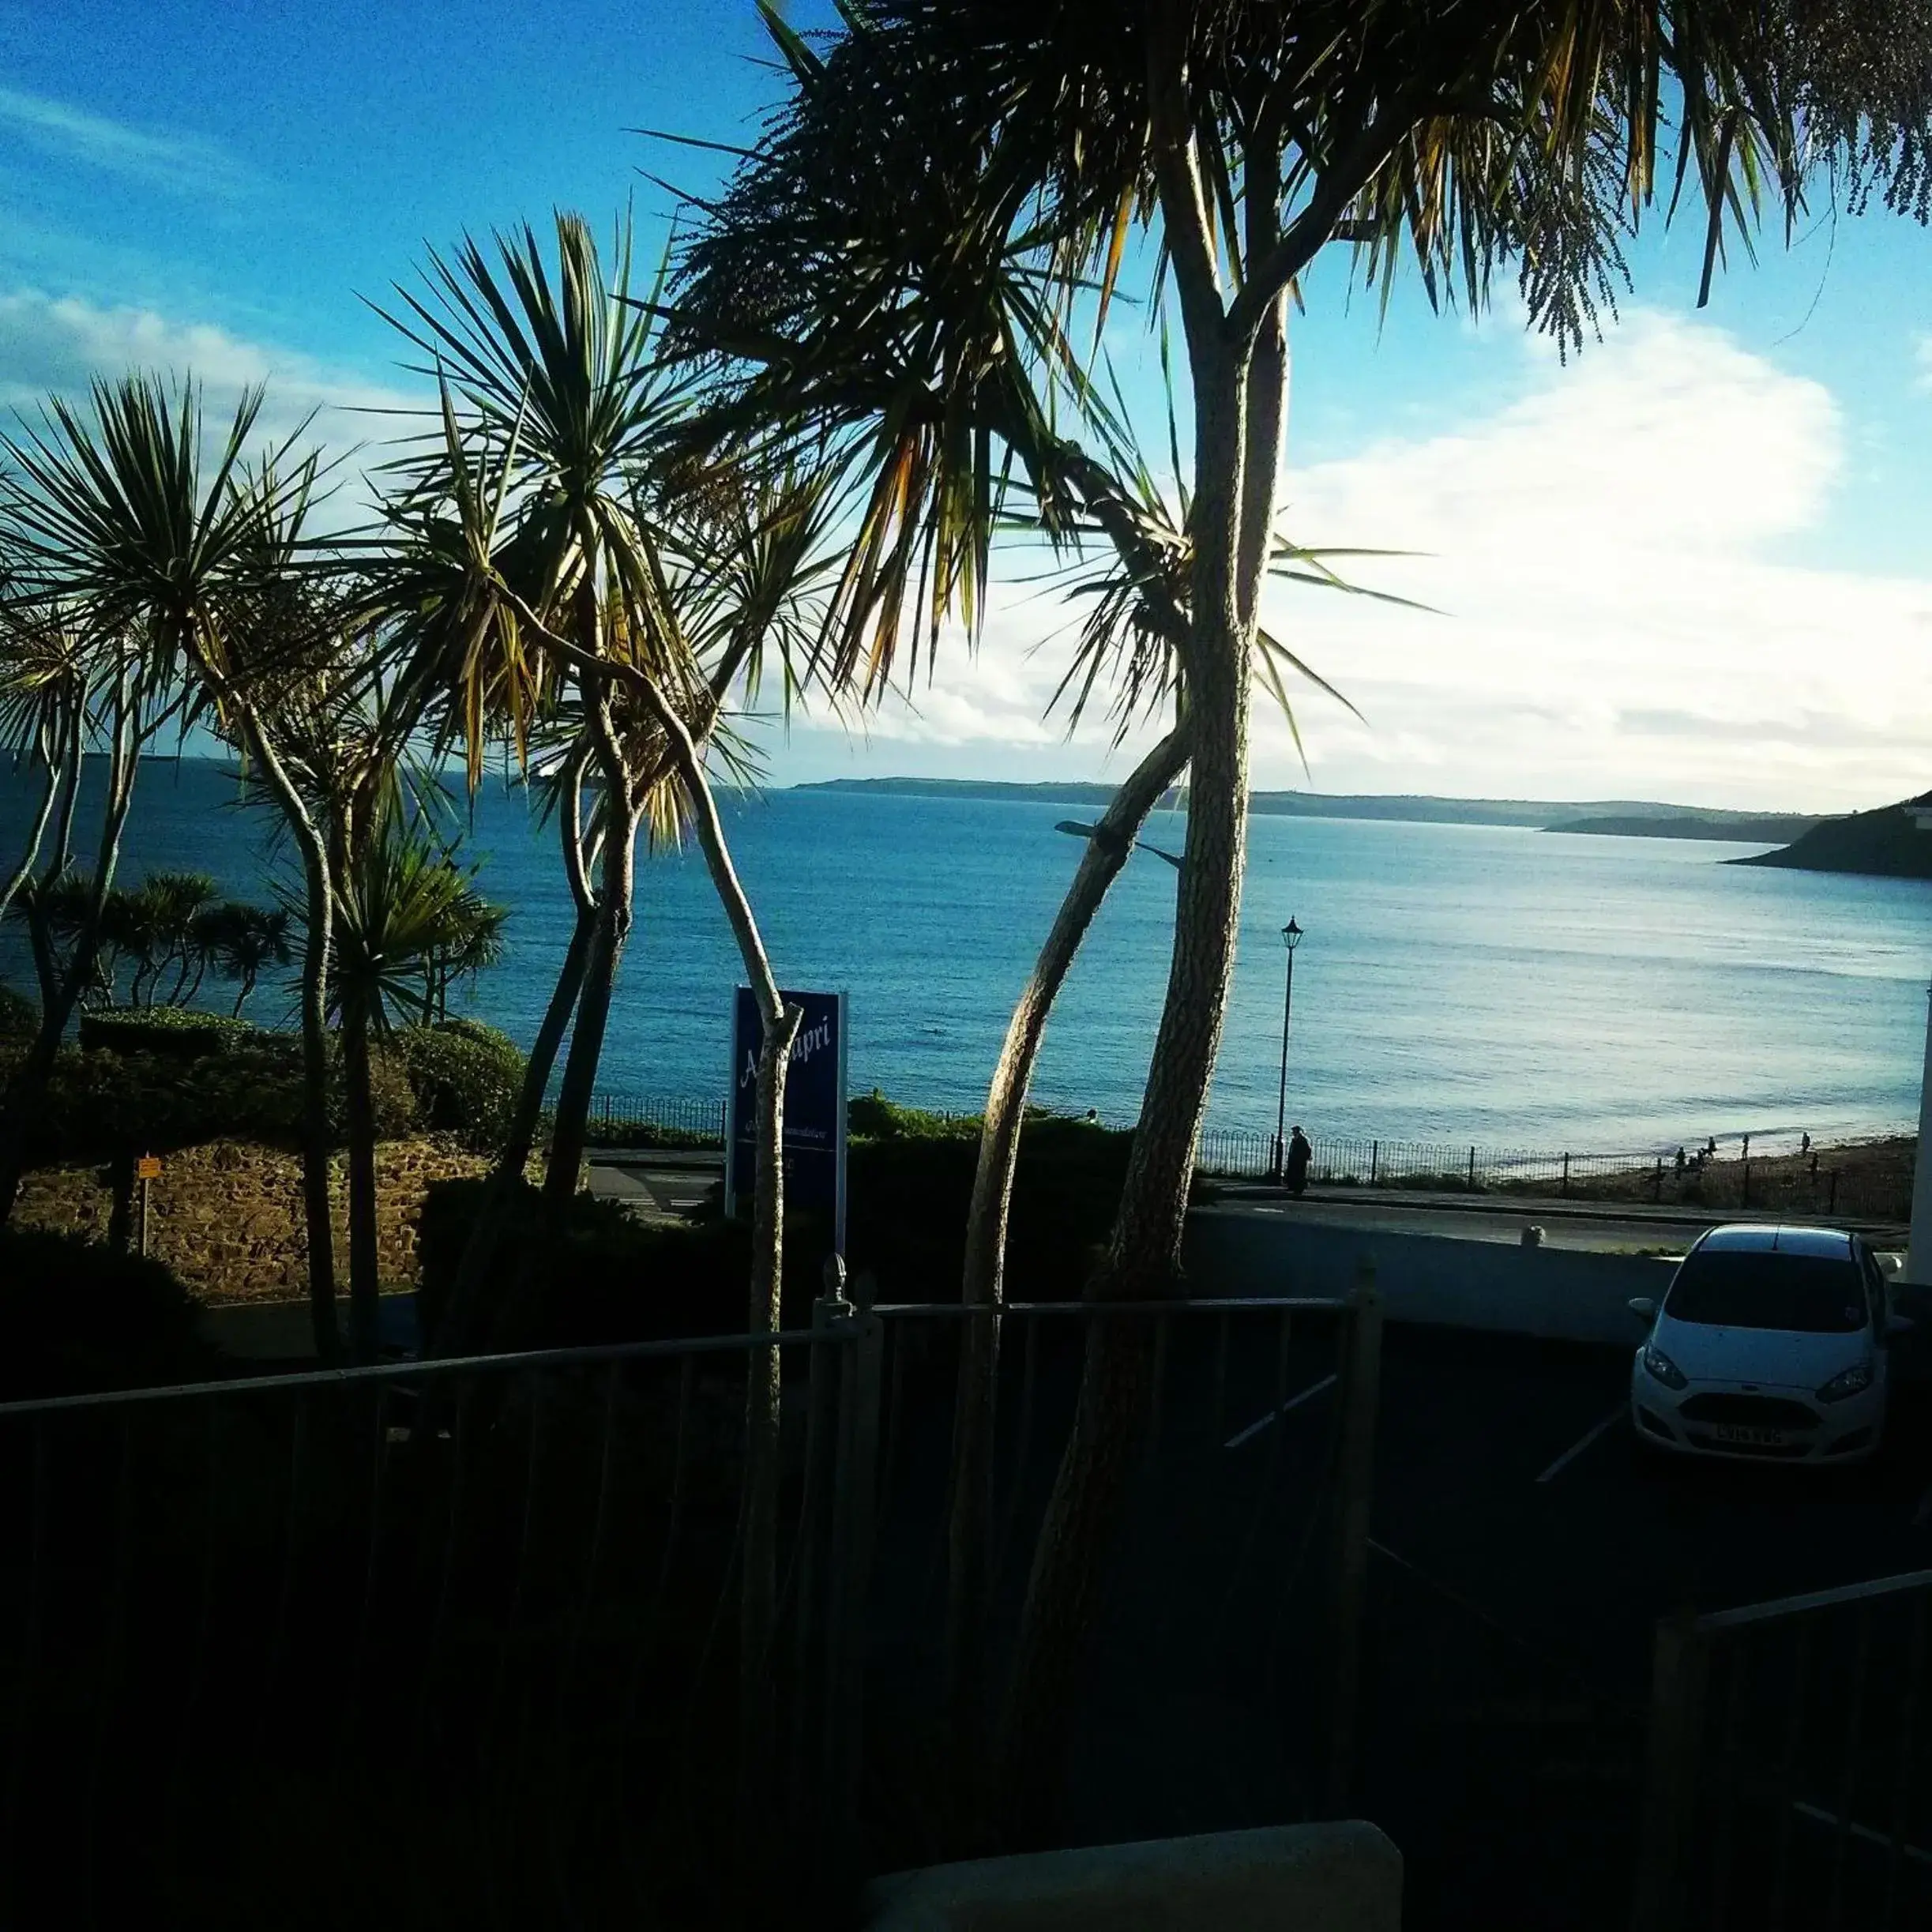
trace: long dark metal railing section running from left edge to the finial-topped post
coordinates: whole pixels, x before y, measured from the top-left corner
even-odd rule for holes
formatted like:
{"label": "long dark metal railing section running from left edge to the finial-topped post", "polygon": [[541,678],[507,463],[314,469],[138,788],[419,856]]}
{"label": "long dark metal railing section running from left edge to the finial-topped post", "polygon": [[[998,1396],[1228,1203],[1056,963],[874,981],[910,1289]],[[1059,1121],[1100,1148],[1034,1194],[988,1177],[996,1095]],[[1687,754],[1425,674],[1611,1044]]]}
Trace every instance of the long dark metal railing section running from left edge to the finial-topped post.
{"label": "long dark metal railing section running from left edge to the finial-topped post", "polygon": [[[794,1403],[748,1528],[746,1368],[810,1358],[815,1420],[867,1337],[848,1310],[0,1408],[0,1924],[197,1895],[269,1924],[292,1884],[317,1922],[715,1918],[734,1818],[840,1843],[821,1685],[858,1604],[817,1551],[864,1484]],[[759,1561],[784,1636],[746,1658]]]}

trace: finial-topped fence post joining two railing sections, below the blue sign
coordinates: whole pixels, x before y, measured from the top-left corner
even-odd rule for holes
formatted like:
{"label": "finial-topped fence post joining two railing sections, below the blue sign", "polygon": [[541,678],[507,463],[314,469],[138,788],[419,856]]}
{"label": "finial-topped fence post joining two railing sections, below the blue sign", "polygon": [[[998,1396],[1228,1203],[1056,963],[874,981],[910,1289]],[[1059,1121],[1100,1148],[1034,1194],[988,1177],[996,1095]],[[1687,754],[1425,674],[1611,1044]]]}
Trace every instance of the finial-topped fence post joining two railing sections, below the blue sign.
{"label": "finial-topped fence post joining two railing sections, below the blue sign", "polygon": [[825,1605],[825,1835],[831,1878],[858,1878],[858,1795],[866,1743],[866,1600],[879,1478],[879,1364],[885,1327],[866,1275],[842,1350],[838,1447],[833,1463],[833,1559]]}

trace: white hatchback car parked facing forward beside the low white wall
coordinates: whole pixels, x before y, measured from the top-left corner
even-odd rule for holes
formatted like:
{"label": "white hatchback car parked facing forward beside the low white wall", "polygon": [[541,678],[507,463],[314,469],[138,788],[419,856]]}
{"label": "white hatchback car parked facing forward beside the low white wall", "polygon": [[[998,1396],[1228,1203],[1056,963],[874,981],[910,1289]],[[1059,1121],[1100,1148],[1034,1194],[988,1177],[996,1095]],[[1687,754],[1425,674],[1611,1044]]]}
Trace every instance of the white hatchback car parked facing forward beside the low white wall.
{"label": "white hatchback car parked facing forward beside the low white wall", "polygon": [[1861,1463],[1886,1426],[1891,1314],[1878,1258],[1824,1227],[1714,1227],[1671,1277],[1631,1366],[1646,1447],[1783,1463]]}

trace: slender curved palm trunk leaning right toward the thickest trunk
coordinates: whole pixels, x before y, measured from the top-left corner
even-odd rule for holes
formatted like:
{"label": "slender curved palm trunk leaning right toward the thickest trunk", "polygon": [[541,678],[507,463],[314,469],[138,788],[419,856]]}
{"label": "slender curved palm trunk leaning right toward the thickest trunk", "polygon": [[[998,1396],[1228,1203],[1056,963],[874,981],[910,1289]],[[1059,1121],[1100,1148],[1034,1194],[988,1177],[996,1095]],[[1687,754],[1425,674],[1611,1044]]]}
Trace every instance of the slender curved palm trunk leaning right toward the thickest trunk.
{"label": "slender curved palm trunk leaning right toward the thickest trunk", "polygon": [[1007,1041],[985,1099],[980,1165],[966,1215],[962,1300],[995,1314],[970,1320],[960,1337],[958,1397],[952,1412],[952,1501],[947,1571],[947,1710],[962,1797],[978,1812],[978,1764],[985,1702],[985,1592],[993,1480],[993,1405],[999,1389],[999,1316],[1005,1298],[1007,1221],[1020,1128],[1047,1018],[1080,943],[1121,875],[1134,840],[1161,794],[1186,767],[1186,728],[1177,726],[1115,792],[1053,920],[1032,978],[1012,1009]]}

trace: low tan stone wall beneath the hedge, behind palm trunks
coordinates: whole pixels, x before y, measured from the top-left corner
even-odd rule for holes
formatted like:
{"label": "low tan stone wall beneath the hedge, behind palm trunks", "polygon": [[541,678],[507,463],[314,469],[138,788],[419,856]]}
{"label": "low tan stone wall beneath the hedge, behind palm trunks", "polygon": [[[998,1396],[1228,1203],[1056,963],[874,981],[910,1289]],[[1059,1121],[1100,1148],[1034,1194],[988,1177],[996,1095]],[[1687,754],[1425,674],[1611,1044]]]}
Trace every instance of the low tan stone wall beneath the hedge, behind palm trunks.
{"label": "low tan stone wall beneath the hedge, behind palm trunks", "polygon": [[[417,1279],[415,1231],[433,1180],[479,1175],[485,1155],[448,1136],[390,1140],[377,1148],[377,1229],[384,1289]],[[106,1240],[112,1192],[99,1167],[43,1167],[25,1177],[19,1227]],[[336,1273],[348,1285],[344,1163],[332,1163]],[[301,1161],[278,1148],[214,1140],[164,1159],[149,1182],[149,1254],[166,1262],[207,1302],[280,1300],[307,1293]]]}

